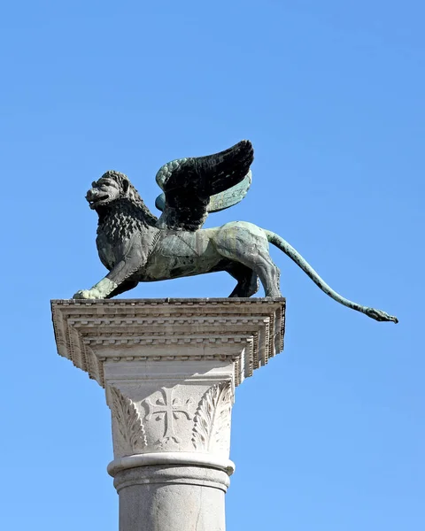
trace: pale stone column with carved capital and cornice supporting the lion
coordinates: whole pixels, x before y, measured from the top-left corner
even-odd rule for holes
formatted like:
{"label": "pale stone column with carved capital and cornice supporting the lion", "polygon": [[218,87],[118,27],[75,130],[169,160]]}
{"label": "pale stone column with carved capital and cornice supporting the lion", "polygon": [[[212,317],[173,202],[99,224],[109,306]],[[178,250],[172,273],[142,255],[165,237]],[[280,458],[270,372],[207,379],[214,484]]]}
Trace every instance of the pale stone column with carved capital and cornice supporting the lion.
{"label": "pale stone column with carved capital and cornice supporting the lion", "polygon": [[224,531],[235,388],[282,350],[284,299],[51,307],[59,355],[106,392],[120,531]]}

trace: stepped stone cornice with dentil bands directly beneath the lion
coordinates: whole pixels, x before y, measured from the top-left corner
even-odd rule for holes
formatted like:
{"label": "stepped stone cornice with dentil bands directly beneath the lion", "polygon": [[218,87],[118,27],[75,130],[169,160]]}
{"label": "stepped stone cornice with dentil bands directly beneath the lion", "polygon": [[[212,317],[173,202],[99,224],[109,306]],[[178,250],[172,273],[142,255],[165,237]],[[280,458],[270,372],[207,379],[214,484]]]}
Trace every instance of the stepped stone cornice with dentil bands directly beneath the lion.
{"label": "stepped stone cornice with dentil bands directly beneath the lion", "polygon": [[235,384],[283,348],[283,298],[51,301],[58,354],[104,386],[105,361],[232,361]]}

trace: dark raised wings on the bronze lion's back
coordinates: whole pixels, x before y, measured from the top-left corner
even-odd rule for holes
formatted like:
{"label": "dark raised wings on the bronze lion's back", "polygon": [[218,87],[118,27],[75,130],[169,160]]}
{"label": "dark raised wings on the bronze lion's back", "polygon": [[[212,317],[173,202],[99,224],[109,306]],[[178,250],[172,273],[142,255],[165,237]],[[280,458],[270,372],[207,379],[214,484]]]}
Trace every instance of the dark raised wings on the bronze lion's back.
{"label": "dark raised wings on the bronze lion's back", "polygon": [[163,165],[157,182],[164,194],[156,205],[162,211],[157,227],[195,231],[208,212],[218,212],[243,199],[251,186],[251,142],[243,140],[220,153],[181,158]]}

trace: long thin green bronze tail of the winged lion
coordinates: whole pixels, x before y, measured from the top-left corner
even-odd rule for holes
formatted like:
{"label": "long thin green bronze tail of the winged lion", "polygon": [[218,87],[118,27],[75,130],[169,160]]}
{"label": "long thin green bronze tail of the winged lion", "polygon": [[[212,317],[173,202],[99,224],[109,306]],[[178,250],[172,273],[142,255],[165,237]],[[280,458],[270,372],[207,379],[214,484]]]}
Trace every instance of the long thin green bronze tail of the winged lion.
{"label": "long thin green bronze tail of the winged lion", "polygon": [[290,259],[293,260],[297,266],[301,267],[304,273],[312,279],[316,286],[319,286],[319,288],[326,293],[326,295],[333,298],[337,303],[344,304],[344,306],[347,306],[352,310],[356,310],[357,312],[365,313],[368,317],[378,321],[392,321],[394,323],[398,323],[397,317],[389,315],[382,310],[376,310],[375,308],[369,308],[368,306],[362,306],[361,304],[353,303],[344,296],[339,295],[339,293],[336,293],[334,289],[328,286],[328,284],[321,279],[321,276],[314,271],[313,267],[305,261],[305,259],[299,254],[298,250],[295,250],[290,243],[284,240],[280,235],[276,235],[274,232],[265,229],[263,230],[267,235],[267,240],[270,243],[273,243],[273,245],[289,256]]}

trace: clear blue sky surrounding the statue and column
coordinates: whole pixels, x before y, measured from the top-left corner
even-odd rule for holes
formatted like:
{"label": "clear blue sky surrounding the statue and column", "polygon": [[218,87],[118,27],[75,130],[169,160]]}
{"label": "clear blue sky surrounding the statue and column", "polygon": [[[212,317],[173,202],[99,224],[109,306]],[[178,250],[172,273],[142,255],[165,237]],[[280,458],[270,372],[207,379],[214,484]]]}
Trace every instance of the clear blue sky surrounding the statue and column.
{"label": "clear blue sky surrounding the statue and column", "polygon": [[[50,299],[104,275],[84,195],[249,138],[246,219],[273,250],[284,352],[237,390],[228,531],[423,531],[425,4],[69,0],[0,8],[0,527],[118,529],[104,391],[56,353]],[[225,273],[131,296],[227,296]]]}

